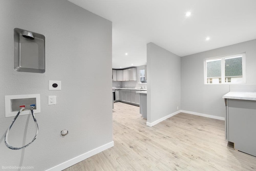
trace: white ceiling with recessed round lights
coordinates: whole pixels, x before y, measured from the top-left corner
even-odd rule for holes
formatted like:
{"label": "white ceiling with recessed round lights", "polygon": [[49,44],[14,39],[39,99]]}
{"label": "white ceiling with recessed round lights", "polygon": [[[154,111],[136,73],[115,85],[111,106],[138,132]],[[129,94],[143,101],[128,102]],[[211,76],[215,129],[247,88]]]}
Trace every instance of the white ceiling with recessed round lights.
{"label": "white ceiling with recessed round lights", "polygon": [[256,39],[256,0],[69,1],[112,21],[115,69],[146,64],[149,42],[182,57]]}

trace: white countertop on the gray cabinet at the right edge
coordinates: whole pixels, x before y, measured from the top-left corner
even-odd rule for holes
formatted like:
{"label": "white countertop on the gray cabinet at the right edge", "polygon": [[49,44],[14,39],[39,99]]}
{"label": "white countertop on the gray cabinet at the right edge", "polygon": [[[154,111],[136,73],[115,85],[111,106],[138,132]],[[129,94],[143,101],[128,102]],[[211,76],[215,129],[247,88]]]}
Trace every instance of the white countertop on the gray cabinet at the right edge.
{"label": "white countertop on the gray cabinet at the right edge", "polygon": [[230,91],[222,98],[231,98],[231,99],[239,99],[239,100],[256,100],[256,92],[235,92]]}

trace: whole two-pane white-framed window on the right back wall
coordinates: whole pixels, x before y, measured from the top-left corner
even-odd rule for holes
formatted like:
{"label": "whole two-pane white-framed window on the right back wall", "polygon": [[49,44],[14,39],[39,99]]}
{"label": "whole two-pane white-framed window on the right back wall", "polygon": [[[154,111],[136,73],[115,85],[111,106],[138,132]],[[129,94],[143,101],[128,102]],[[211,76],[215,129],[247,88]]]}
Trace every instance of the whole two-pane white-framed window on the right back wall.
{"label": "whole two-pane white-framed window on the right back wall", "polygon": [[245,83],[245,66],[245,53],[205,59],[205,84]]}

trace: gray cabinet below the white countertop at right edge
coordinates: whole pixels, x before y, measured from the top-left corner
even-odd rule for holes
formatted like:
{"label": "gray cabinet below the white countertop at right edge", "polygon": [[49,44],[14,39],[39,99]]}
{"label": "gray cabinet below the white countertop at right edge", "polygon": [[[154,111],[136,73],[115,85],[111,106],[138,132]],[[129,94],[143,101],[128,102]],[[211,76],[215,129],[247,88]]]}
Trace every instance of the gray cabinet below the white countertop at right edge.
{"label": "gray cabinet below the white countertop at right edge", "polygon": [[256,101],[226,99],[226,138],[234,148],[256,156]]}

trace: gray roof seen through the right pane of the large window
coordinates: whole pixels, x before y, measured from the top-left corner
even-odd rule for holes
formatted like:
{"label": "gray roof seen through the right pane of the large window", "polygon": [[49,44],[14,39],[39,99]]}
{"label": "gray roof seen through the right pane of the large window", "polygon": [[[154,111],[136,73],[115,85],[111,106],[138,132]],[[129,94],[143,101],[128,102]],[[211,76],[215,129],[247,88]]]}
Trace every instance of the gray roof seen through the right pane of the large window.
{"label": "gray roof seen through the right pane of the large window", "polygon": [[225,77],[242,75],[242,57],[225,59]]}

